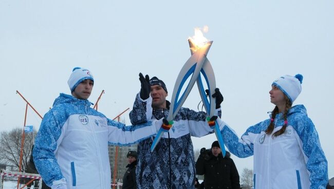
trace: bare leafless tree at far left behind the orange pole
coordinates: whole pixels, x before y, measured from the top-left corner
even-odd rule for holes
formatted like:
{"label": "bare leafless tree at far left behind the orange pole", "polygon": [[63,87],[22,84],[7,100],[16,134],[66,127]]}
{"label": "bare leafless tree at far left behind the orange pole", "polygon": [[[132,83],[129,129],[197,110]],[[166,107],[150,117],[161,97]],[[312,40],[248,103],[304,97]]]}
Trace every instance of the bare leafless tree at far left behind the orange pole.
{"label": "bare leafless tree at far left behind the orange pole", "polygon": [[[0,162],[19,166],[21,143],[22,143],[22,128],[14,128],[10,131],[2,131],[0,133]],[[33,135],[36,135],[34,130],[32,133],[25,134],[23,155],[21,163],[21,171],[28,171],[28,162],[31,155],[31,148],[33,145]]]}

